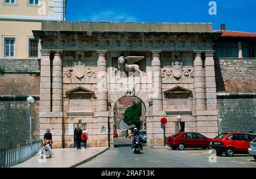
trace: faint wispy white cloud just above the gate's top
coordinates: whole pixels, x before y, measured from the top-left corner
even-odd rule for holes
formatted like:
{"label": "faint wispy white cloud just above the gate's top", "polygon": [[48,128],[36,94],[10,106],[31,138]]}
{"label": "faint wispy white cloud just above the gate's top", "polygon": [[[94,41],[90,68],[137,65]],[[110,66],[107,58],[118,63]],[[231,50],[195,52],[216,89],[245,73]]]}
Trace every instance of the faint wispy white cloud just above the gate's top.
{"label": "faint wispy white cloud just above the gate's top", "polygon": [[134,16],[127,14],[121,14],[114,11],[104,11],[99,14],[89,15],[85,18],[86,21],[93,22],[136,22],[137,19]]}

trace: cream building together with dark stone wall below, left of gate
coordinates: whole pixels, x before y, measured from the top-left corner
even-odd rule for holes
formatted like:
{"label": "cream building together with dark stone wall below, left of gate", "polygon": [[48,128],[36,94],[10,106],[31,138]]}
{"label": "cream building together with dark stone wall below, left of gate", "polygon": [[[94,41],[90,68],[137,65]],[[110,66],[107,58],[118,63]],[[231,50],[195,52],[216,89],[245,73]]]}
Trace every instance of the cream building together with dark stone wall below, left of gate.
{"label": "cream building together with dark stone wall below, left of gate", "polygon": [[[0,148],[29,141],[26,98],[36,99],[33,139],[39,139],[40,43],[32,30],[41,30],[46,20],[65,20],[62,0],[0,1]],[[13,135],[20,131],[20,135]],[[7,140],[8,139],[8,140]]]}

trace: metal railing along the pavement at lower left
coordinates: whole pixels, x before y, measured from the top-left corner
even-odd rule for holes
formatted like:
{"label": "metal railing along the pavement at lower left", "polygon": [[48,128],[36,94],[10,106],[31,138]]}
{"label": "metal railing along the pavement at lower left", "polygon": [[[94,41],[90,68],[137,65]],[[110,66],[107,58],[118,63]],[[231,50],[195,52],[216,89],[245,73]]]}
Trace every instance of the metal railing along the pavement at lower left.
{"label": "metal railing along the pavement at lower left", "polygon": [[42,140],[31,144],[0,150],[0,168],[8,168],[35,156],[42,148]]}

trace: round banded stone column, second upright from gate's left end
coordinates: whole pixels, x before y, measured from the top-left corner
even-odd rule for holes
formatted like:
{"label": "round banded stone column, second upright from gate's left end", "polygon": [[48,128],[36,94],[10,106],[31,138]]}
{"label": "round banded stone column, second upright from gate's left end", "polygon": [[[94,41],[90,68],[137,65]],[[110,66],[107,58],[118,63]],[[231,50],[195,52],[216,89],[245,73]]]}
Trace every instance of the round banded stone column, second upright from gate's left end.
{"label": "round banded stone column, second upright from gate's left end", "polygon": [[60,53],[56,52],[52,64],[52,112],[63,112],[63,67]]}

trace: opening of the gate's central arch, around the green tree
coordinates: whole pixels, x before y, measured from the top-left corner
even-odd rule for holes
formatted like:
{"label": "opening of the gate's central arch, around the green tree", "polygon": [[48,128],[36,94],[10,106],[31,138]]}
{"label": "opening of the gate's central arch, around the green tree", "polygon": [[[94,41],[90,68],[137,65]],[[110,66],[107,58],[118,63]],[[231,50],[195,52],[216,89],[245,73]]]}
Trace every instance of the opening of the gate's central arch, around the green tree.
{"label": "opening of the gate's central arch, around the green tree", "polygon": [[[137,124],[126,124],[125,123],[125,112],[126,110],[133,106],[134,103],[141,103],[141,116],[140,122]],[[118,101],[114,105],[114,138],[116,139],[123,139],[123,140],[130,140],[131,135],[133,133],[133,128],[137,127],[140,131],[146,131],[147,127],[147,120],[146,120],[146,106],[144,102],[137,98],[137,97],[122,97],[118,99]],[[130,135],[131,132],[131,135]],[[146,133],[146,132],[145,132]],[[119,147],[114,140],[114,147]]]}

